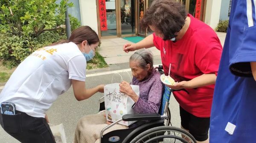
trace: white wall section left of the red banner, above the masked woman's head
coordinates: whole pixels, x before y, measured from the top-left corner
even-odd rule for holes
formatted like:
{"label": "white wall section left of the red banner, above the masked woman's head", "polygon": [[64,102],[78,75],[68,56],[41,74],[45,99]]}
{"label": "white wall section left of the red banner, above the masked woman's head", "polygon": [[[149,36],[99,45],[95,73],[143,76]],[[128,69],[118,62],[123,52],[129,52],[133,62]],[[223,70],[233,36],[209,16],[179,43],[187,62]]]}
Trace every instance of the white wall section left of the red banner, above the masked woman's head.
{"label": "white wall section left of the red banner, above the masked woman's head", "polygon": [[90,26],[98,34],[96,0],[79,0],[82,25]]}

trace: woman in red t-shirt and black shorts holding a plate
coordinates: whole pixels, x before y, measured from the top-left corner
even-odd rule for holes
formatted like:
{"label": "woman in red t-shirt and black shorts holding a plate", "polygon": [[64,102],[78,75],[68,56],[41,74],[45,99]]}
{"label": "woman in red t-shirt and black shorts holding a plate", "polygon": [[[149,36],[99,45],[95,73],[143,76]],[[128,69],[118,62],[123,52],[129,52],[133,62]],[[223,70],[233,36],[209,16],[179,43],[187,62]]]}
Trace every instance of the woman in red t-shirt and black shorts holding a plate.
{"label": "woman in red t-shirt and black shorts holding a plate", "polygon": [[[161,52],[164,73],[178,82],[169,86],[180,104],[181,127],[198,143],[209,143],[208,130],[212,95],[222,46],[215,31],[187,14],[171,0],[155,0],[142,21],[153,34],[136,44],[125,44],[125,52],[155,46]],[[184,89],[184,90],[181,90]]]}

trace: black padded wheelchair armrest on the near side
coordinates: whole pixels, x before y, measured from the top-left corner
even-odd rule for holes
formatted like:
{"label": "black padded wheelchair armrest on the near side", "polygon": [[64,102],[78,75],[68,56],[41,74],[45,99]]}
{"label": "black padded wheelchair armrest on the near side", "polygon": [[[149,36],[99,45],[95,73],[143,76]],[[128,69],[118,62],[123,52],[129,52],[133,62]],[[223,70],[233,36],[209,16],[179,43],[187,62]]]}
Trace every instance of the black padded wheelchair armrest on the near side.
{"label": "black padded wheelchair armrest on the near side", "polygon": [[148,114],[126,114],[122,116],[123,121],[160,120],[161,115],[157,113]]}

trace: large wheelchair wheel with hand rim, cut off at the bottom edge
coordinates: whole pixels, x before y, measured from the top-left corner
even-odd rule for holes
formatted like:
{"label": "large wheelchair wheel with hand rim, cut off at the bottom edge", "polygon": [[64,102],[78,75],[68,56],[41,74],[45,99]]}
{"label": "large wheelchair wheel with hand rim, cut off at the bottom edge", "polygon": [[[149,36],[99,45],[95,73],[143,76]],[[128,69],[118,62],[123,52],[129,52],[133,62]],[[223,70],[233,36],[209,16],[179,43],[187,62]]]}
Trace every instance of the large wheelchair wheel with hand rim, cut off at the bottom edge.
{"label": "large wheelchair wheel with hand rim, cut off at the bottom edge", "polygon": [[196,143],[196,140],[183,129],[158,126],[137,135],[130,143]]}

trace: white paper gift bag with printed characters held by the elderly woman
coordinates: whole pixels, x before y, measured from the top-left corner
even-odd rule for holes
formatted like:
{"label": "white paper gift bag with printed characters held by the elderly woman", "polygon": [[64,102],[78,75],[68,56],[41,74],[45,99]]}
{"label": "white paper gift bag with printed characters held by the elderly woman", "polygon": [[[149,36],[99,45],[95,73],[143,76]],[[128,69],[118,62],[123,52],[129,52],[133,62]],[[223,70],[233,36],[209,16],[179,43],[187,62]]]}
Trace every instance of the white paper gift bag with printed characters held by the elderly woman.
{"label": "white paper gift bag with printed characters held by the elderly woman", "polygon": [[[138,85],[131,85],[131,88],[137,95],[140,95]],[[134,109],[131,108],[134,105],[134,101],[128,95],[119,91],[119,83],[106,84],[104,87],[104,98],[106,117],[108,121],[114,122],[121,119],[125,114],[135,113]],[[121,121],[119,123],[129,126],[134,122],[136,121]]]}

